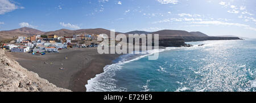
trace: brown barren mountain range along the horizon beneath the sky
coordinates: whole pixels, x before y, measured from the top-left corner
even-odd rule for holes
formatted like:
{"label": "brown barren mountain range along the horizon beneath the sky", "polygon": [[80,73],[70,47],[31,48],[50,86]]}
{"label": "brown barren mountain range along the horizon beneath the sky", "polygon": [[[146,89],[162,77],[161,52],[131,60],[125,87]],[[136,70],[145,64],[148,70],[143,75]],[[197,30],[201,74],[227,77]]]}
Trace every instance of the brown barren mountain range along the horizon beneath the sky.
{"label": "brown barren mountain range along the horizon beneath the sky", "polygon": [[[101,34],[105,33],[110,36],[110,31],[108,29],[96,28],[96,29],[78,29],[78,30],[69,30],[69,29],[59,29],[57,31],[43,32],[38,29],[23,27],[19,29],[13,29],[10,31],[0,31],[0,38],[16,38],[18,36],[32,36],[32,35],[59,35],[59,36],[72,36],[73,34]],[[115,32],[119,34],[121,32]],[[159,38],[174,38],[174,37],[209,37],[201,32],[187,32],[179,30],[169,30],[164,29],[162,31],[156,32],[147,32],[147,31],[131,31],[123,34],[159,34]]]}

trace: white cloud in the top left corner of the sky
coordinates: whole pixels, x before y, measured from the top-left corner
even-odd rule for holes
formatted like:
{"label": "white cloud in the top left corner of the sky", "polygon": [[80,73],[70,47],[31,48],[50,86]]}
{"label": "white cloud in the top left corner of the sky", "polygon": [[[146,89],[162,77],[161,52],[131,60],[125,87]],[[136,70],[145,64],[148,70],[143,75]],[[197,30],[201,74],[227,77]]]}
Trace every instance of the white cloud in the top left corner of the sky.
{"label": "white cloud in the top left corner of the sky", "polygon": [[24,8],[24,7],[18,7],[14,3],[10,2],[9,0],[0,0],[0,15],[5,14],[7,12],[14,11],[18,8]]}

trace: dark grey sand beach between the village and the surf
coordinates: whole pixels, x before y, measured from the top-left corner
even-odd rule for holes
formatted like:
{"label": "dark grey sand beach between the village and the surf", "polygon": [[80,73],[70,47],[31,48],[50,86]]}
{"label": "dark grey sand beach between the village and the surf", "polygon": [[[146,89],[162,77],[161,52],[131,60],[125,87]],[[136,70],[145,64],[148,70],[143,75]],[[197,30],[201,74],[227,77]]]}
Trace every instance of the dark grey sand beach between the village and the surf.
{"label": "dark grey sand beach between the village and the surf", "polygon": [[[98,54],[97,48],[63,49],[46,55],[6,54],[57,87],[79,92],[86,91],[87,81],[104,72],[103,68],[119,57],[119,54]],[[60,70],[61,67],[64,70]]]}

